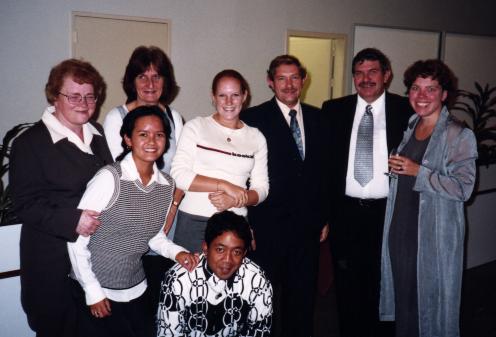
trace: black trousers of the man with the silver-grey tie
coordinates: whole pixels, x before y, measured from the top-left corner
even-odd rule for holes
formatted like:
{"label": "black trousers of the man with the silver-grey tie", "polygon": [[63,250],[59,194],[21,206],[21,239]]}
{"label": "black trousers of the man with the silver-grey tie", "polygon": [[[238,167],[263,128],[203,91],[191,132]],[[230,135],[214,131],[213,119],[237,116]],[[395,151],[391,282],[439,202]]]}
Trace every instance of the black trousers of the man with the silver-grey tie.
{"label": "black trousers of the man with the silver-grey tie", "polygon": [[331,223],[336,299],[341,337],[393,336],[379,321],[381,247],[386,198],[345,197]]}

